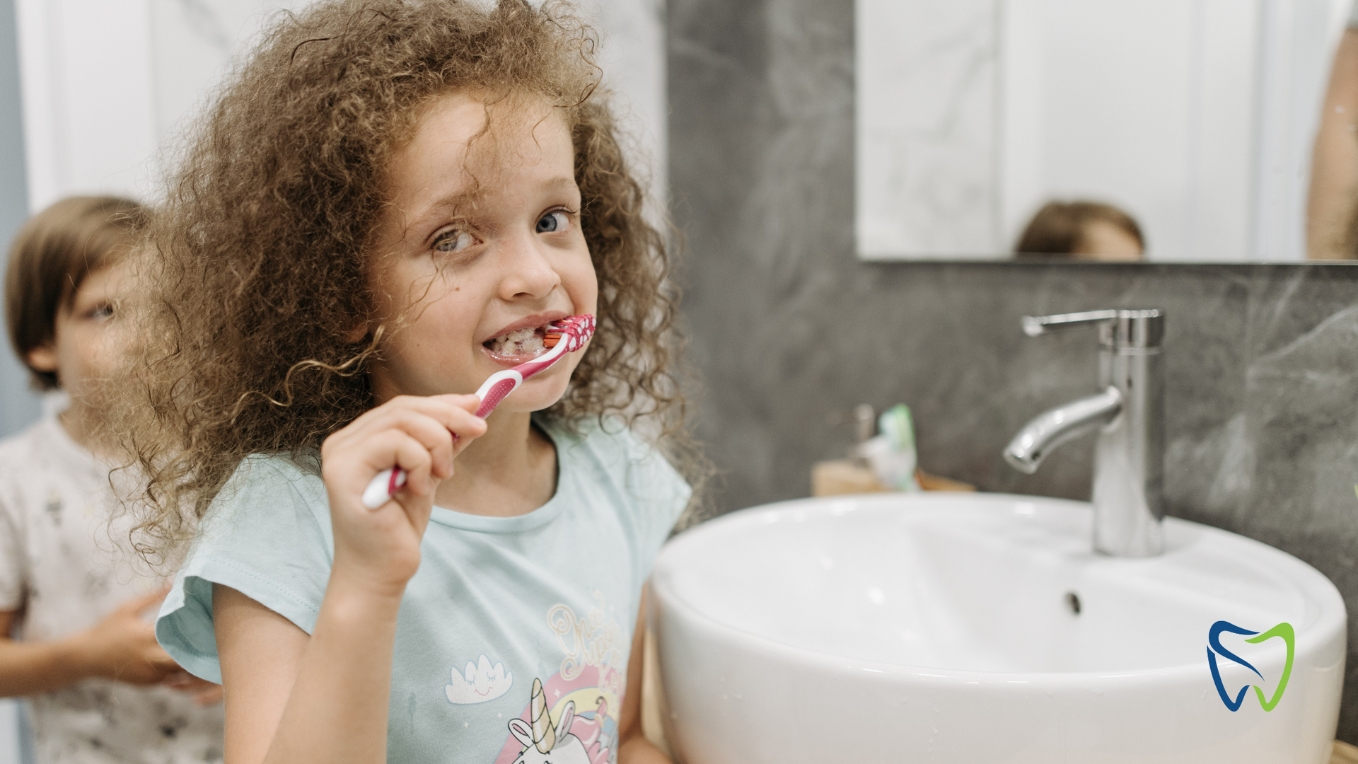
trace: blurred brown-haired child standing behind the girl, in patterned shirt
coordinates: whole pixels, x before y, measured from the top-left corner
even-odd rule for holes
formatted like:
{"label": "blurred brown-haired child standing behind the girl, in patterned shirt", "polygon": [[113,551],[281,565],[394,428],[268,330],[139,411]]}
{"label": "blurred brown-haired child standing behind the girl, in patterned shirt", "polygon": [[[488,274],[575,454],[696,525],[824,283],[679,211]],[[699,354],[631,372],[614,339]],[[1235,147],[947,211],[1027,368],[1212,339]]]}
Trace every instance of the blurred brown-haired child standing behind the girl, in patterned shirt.
{"label": "blurred brown-haired child standing behind the girl, in patterned shirt", "polygon": [[30,696],[39,764],[221,759],[220,688],[156,644],[147,612],[166,579],[133,566],[94,436],[98,383],[120,355],[118,264],[144,215],[67,198],[10,253],[10,340],[34,386],[69,400],[56,411],[48,396],[41,421],[0,442],[0,696]]}

